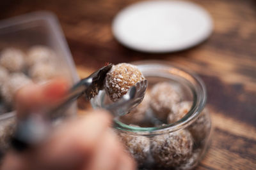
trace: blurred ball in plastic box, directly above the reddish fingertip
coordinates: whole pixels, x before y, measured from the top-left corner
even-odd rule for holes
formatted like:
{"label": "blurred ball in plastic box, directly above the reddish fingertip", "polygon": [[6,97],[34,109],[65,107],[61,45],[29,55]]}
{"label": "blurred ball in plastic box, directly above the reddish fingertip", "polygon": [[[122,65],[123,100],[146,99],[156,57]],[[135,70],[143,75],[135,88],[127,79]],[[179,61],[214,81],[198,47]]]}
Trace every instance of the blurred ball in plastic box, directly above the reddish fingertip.
{"label": "blurred ball in plastic box, directly above the reddish fingertip", "polygon": [[36,82],[49,80],[57,74],[56,67],[50,63],[38,62],[29,69],[29,76]]}

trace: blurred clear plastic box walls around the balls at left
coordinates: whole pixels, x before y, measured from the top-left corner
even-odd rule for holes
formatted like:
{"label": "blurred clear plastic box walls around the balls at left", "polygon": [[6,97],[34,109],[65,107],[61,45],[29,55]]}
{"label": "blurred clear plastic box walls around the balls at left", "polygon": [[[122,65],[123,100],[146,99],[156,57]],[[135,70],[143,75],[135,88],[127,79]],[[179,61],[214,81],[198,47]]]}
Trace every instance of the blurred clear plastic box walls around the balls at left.
{"label": "blurred clear plastic box walls around the balls at left", "polygon": [[[0,22],[0,51],[15,47],[26,52],[34,45],[44,45],[56,53],[56,68],[72,84],[79,80],[67,41],[61,30],[58,19],[47,11],[38,11]],[[68,108],[68,113],[77,113],[76,103]],[[0,115],[0,146],[3,146],[6,134],[6,122],[15,118],[15,111]],[[10,125],[10,124],[8,124]],[[4,136],[4,137],[3,137]]]}

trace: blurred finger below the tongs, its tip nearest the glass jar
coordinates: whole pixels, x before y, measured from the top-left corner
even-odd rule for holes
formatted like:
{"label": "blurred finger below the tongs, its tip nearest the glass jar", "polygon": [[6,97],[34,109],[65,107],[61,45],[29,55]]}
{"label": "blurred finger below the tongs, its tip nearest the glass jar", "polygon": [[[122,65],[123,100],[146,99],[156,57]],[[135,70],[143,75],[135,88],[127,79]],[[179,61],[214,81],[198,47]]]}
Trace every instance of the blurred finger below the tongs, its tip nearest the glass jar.
{"label": "blurred finger below the tongs, its tip nearest the glass jar", "polygon": [[4,161],[5,169],[81,169],[90,162],[110,124],[111,116],[106,111],[90,111],[79,120],[60,125],[48,141],[34,150],[9,154],[10,159]]}

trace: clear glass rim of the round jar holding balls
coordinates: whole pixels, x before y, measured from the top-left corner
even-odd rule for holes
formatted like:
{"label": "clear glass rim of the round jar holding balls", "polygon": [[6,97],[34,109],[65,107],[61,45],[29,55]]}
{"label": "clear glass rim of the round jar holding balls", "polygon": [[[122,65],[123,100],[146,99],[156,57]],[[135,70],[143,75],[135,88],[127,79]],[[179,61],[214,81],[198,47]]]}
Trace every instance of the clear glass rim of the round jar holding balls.
{"label": "clear glass rim of the round jar holding balls", "polygon": [[[176,71],[180,73],[184,73],[190,76],[190,78],[195,81],[195,84],[193,84],[192,90],[193,93],[193,104],[188,111],[188,113],[181,118],[179,121],[174,122],[172,124],[166,124],[159,127],[134,127],[132,125],[127,125],[122,122],[119,122],[118,120],[113,120],[113,128],[117,131],[134,134],[134,135],[143,135],[143,136],[154,136],[156,134],[164,134],[164,133],[170,133],[174,131],[178,131],[179,129],[184,129],[188,125],[190,125],[192,122],[195,121],[195,119],[200,115],[202,110],[205,107],[205,103],[207,101],[207,92],[205,88],[204,81],[195,73],[192,71],[189,71],[188,69],[184,69],[180,66],[177,66],[176,64],[172,64],[170,62],[161,61],[161,60],[141,60],[137,62],[131,62],[131,64],[134,64],[138,67],[143,65],[148,66],[161,66],[161,67],[168,67],[169,69],[175,69]],[[191,83],[191,81],[189,81]],[[196,91],[197,90],[197,91]],[[96,108],[95,104],[91,101],[91,104],[93,108]]]}

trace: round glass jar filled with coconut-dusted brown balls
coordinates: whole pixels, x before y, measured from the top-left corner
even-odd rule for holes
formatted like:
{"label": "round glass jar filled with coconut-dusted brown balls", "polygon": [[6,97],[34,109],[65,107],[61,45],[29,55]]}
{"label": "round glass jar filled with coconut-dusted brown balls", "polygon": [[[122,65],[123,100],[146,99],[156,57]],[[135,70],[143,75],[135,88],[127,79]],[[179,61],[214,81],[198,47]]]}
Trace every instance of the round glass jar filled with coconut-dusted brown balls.
{"label": "round glass jar filled with coconut-dusted brown balls", "polygon": [[[207,95],[203,81],[166,62],[145,60],[132,64],[137,65],[148,80],[147,93],[151,98],[143,99],[148,101],[148,105],[143,104],[147,106],[143,118],[138,121],[138,115],[131,112],[133,122],[132,116],[128,122],[127,118],[116,117],[113,128],[140,168],[193,169],[204,156],[211,136],[211,117],[205,108]],[[159,85],[161,82],[168,85]],[[159,90],[165,95],[170,89],[178,96],[163,97],[160,104],[172,107],[172,112],[163,117],[163,111],[154,109],[156,94],[152,91]],[[179,100],[173,103],[177,97]],[[106,93],[101,91],[91,102],[93,108],[106,104],[106,98]],[[176,119],[172,119],[173,115]]]}

